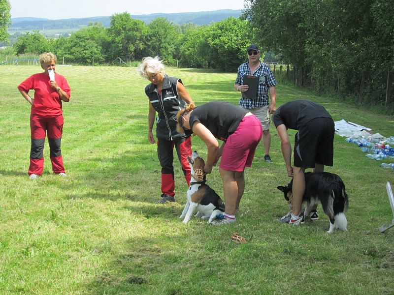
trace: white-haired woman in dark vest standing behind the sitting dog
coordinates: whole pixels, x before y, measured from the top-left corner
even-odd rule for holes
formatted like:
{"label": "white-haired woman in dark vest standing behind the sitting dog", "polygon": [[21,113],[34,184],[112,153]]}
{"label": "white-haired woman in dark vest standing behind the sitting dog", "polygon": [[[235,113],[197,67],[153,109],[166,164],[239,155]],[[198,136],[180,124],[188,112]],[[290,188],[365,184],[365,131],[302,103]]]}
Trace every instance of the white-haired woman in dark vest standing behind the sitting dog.
{"label": "white-haired woman in dark vest standing behind the sitting dog", "polygon": [[192,154],[192,132],[176,131],[176,114],[193,100],[180,78],[165,74],[164,64],[159,57],[144,58],[137,68],[138,73],[151,83],[145,87],[149,99],[148,141],[155,143],[152,128],[156,117],[157,153],[162,166],[162,195],[160,204],[175,202],[175,180],[173,149],[175,147],[183,174],[189,186],[191,171],[187,156]]}

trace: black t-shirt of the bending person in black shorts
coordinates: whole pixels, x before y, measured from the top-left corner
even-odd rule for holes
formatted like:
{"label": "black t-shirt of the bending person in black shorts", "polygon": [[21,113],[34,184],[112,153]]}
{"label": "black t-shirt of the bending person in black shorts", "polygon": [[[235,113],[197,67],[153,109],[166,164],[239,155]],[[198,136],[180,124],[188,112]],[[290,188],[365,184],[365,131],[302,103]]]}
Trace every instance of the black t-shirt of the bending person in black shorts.
{"label": "black t-shirt of the bending person in black shorts", "polygon": [[287,128],[295,130],[315,118],[331,118],[331,116],[323,106],[309,100],[287,102],[281,105],[272,117],[275,127],[285,124]]}

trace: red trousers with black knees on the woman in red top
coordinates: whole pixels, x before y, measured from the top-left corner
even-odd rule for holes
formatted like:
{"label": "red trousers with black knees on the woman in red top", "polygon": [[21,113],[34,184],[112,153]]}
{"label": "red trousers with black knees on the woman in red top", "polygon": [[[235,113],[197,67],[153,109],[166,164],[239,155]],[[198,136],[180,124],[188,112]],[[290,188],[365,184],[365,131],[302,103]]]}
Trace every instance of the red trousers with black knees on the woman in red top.
{"label": "red trousers with black knees on the woman in red top", "polygon": [[63,115],[55,118],[44,118],[32,114],[30,116],[30,131],[32,147],[30,150],[29,175],[41,175],[44,171],[44,143],[48,133],[48,143],[52,170],[54,173],[65,173],[62,150],[60,148],[63,134]]}

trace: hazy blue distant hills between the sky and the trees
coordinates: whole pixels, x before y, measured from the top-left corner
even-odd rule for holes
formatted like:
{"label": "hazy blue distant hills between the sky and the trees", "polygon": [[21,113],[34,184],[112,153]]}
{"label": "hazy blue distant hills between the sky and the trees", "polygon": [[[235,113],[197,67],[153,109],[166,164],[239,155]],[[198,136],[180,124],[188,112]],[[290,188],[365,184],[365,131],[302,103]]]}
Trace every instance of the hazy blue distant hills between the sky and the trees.
{"label": "hazy blue distant hills between the sky and the trees", "polygon": [[[138,19],[149,24],[157,17],[165,17],[168,21],[175,24],[194,23],[197,25],[209,25],[212,22],[218,22],[228,17],[238,18],[241,15],[241,10],[223,9],[215,11],[200,11],[200,12],[182,12],[182,13],[154,13],[131,15],[133,19]],[[110,16],[97,16],[89,18],[72,18],[61,20],[49,20],[43,18],[33,17],[18,17],[12,18],[12,25],[8,28],[12,31],[27,31],[27,30],[45,30],[48,29],[75,29],[78,30],[90,23],[100,22],[105,27],[111,24]]]}

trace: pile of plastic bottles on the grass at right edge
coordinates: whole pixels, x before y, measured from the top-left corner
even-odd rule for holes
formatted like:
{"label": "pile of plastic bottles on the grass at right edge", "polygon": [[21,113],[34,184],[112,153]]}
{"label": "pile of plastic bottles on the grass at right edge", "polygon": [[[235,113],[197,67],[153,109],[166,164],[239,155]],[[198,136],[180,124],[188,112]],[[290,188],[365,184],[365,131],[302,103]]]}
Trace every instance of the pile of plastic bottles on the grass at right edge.
{"label": "pile of plastic bottles on the grass at right edge", "polygon": [[[353,143],[367,152],[366,157],[375,160],[394,160],[394,136],[377,139],[373,137],[348,137],[345,139],[348,143]],[[382,163],[382,168],[394,170],[394,163]]]}

